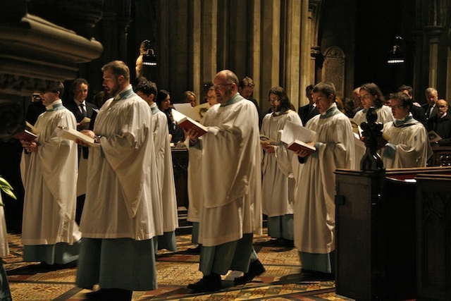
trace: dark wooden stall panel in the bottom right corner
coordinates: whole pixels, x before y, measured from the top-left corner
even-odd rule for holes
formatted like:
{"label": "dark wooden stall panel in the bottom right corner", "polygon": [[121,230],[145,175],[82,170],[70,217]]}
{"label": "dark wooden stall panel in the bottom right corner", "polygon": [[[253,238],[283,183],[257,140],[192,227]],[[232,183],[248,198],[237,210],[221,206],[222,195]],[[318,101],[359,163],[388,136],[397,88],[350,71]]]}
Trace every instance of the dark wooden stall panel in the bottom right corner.
{"label": "dark wooden stall panel in the bottom right corner", "polygon": [[451,176],[417,181],[417,300],[451,300]]}

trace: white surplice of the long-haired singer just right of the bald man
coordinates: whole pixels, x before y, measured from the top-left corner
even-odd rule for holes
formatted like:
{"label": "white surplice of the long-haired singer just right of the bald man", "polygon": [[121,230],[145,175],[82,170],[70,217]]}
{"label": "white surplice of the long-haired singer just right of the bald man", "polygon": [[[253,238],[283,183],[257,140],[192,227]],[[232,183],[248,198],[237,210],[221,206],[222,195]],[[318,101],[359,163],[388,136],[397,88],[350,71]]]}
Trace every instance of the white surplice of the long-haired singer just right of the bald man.
{"label": "white surplice of the long-haired singer just right of the bald man", "polygon": [[280,115],[268,113],[261,123],[260,133],[276,141],[275,152],[265,153],[261,164],[261,208],[263,214],[269,217],[293,214],[295,203],[295,178],[292,173],[292,157],[295,153],[280,141],[279,133],[286,121],[302,126],[299,115],[291,110]]}

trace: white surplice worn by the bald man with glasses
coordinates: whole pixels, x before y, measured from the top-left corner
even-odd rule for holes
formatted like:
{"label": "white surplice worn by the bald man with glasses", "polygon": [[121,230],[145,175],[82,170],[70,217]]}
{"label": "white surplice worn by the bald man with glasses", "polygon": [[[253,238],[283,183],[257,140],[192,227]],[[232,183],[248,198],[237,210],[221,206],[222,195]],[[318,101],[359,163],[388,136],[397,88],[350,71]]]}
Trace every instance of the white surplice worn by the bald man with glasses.
{"label": "white surplice worn by the bald man with glasses", "polygon": [[202,120],[208,133],[200,137],[199,148],[190,147],[190,164],[201,168],[199,243],[205,247],[261,233],[258,113],[240,94],[229,102],[211,106]]}

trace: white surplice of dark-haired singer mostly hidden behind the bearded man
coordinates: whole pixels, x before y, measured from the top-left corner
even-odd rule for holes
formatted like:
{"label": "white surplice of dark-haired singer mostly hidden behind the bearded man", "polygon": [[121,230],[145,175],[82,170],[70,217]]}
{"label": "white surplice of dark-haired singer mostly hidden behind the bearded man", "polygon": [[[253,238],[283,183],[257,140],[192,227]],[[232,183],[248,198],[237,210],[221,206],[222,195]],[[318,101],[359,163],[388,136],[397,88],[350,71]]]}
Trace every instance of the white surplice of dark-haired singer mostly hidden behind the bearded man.
{"label": "white surplice of dark-haired singer mostly hidden behind the bearded man", "polygon": [[154,123],[155,161],[161,209],[163,210],[163,231],[172,232],[178,228],[178,216],[168,118],[166,118],[165,113],[158,109],[156,104],[151,106],[150,109],[153,116],[152,123]]}

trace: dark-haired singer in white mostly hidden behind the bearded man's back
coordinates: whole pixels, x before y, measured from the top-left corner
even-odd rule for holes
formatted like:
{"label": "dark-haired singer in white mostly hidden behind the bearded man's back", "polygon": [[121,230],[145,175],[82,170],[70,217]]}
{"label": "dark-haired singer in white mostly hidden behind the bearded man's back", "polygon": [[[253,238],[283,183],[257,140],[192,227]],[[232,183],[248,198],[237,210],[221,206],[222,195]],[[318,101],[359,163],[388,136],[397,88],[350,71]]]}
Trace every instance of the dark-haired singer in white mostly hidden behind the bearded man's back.
{"label": "dark-haired singer in white mostly hidden behind the bearded man's back", "polygon": [[160,111],[154,99],[157,89],[154,82],[142,82],[135,89],[152,110],[154,128],[155,162],[158,175],[161,209],[163,210],[163,235],[158,237],[157,250],[177,251],[175,229],[178,228],[177,199],[172,164],[171,144],[166,114]]}

